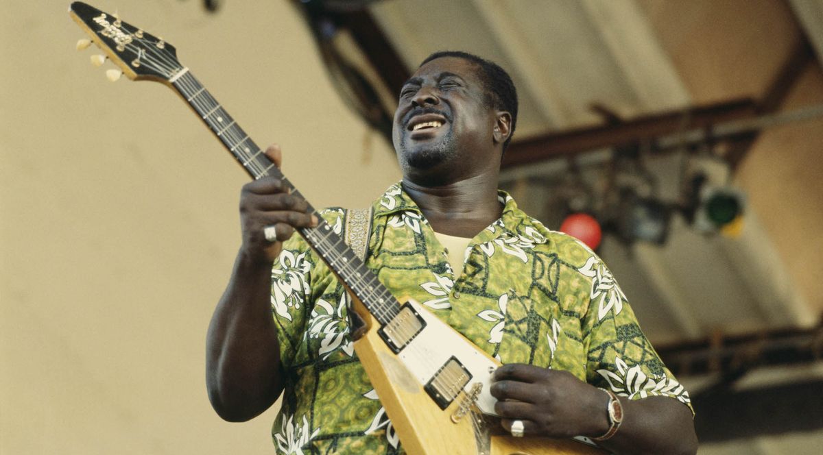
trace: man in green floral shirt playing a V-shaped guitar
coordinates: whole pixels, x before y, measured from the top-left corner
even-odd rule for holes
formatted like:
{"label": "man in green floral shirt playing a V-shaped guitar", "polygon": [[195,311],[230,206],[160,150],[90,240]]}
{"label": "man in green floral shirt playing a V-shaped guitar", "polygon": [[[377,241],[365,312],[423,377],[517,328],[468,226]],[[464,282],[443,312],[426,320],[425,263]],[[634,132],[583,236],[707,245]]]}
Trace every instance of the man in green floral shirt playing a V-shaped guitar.
{"label": "man in green floral shirt playing a V-shaped guitar", "polygon": [[[467,53],[427,58],[400,93],[393,142],[403,179],[374,202],[368,266],[504,363],[491,387],[504,429],[588,436],[615,453],[695,453],[688,394],[611,273],[497,190],[516,118],[500,67]],[[279,165],[276,146],[267,155]],[[244,186],[243,245],[209,327],[212,406],[249,420],[285,388],[272,429],[282,452],[398,453],[351,348],[346,293],[292,236],[317,223],[306,207],[276,179]],[[339,229],[341,214],[323,216]],[[622,421],[607,411],[618,407]]]}

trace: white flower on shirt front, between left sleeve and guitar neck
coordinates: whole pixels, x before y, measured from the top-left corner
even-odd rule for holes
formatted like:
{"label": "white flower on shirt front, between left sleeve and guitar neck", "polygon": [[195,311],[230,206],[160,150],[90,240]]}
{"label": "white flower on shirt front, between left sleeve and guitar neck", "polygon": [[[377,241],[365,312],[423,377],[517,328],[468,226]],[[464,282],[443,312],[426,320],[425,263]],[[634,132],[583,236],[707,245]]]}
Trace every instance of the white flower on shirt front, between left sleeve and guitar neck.
{"label": "white flower on shirt front, between left sleeve and guitar neck", "polygon": [[354,343],[348,337],[348,326],[343,317],[343,309],[348,304],[348,294],[340,295],[337,308],[326,300],[318,299],[311,312],[311,321],[306,336],[322,338],[318,355],[326,360],[337,349],[342,349],[349,357],[354,354]]}

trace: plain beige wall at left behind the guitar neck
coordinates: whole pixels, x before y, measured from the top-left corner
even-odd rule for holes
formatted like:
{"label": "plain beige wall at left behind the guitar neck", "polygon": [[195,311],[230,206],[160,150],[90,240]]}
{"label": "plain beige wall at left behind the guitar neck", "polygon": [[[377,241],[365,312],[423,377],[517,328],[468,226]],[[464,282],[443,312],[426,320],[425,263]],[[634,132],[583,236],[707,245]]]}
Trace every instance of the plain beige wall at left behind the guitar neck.
{"label": "plain beige wall at left behind the guitar neck", "polygon": [[[176,45],[315,205],[399,178],[287,2],[201,4],[95,2]],[[91,67],[67,5],[2,2],[0,453],[269,453],[272,411],[223,422],[204,387],[247,178],[167,88]]]}

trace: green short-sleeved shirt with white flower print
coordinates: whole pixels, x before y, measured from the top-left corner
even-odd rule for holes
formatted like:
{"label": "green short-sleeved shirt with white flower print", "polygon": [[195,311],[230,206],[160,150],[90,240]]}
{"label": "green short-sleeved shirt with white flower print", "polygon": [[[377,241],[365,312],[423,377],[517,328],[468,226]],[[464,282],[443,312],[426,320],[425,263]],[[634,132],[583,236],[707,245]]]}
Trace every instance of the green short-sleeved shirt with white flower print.
{"label": "green short-sleeved shirt with white flower print", "polygon": [[[374,202],[368,267],[394,295],[428,307],[503,363],[565,369],[639,399],[688,393],[654,352],[611,272],[589,248],[547,230],[500,192],[503,214],[454,279],[444,247],[400,183]],[[323,211],[344,234],[344,211]],[[286,371],[272,427],[281,453],[402,453],[354,352],[348,295],[295,235],[272,268],[272,313]],[[690,406],[690,405],[689,405]]]}

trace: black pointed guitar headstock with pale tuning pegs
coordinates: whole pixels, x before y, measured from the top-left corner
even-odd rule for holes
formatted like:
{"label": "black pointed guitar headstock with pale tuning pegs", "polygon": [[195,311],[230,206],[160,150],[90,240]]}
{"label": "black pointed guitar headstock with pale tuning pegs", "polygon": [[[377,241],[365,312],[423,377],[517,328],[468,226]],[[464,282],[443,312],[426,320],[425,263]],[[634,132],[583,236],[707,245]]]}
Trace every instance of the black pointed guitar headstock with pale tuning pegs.
{"label": "black pointed guitar headstock with pale tuning pegs", "polygon": [[[91,37],[105,56],[92,56],[91,62],[100,66],[110,58],[129,79],[170,82],[184,67],[177,60],[177,51],[164,39],[121,21],[119,17],[100,11],[83,2],[72,2],[68,13],[77,25]],[[77,49],[91,44],[82,40]],[[116,70],[110,70],[116,71]],[[119,77],[119,73],[116,75]],[[109,79],[115,80],[109,74]]]}

